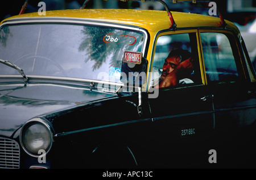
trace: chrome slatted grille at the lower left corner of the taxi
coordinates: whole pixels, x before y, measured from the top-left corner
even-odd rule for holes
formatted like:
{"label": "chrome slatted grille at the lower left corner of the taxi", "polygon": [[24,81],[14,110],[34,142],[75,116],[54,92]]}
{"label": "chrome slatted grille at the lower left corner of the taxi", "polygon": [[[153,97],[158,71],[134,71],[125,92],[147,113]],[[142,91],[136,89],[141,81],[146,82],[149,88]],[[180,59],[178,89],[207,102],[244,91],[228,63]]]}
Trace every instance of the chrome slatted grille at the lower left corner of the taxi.
{"label": "chrome slatted grille at the lower left corner of the taxi", "polygon": [[18,169],[19,157],[19,144],[14,140],[0,137],[0,169]]}

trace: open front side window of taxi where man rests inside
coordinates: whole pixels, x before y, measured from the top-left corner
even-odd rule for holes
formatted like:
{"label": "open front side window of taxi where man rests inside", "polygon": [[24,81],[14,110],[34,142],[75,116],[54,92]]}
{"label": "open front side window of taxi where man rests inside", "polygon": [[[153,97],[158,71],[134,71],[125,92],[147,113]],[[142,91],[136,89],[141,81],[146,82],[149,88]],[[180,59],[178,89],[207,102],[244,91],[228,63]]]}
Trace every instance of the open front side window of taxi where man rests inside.
{"label": "open front side window of taxi where man rests inside", "polygon": [[[176,62],[172,62],[171,56],[175,57]],[[184,69],[184,62],[188,59],[193,60],[192,67]],[[183,70],[178,70],[182,64]],[[163,35],[156,41],[150,86],[161,87],[164,79],[174,72],[177,72],[175,86],[201,83],[196,32]]]}

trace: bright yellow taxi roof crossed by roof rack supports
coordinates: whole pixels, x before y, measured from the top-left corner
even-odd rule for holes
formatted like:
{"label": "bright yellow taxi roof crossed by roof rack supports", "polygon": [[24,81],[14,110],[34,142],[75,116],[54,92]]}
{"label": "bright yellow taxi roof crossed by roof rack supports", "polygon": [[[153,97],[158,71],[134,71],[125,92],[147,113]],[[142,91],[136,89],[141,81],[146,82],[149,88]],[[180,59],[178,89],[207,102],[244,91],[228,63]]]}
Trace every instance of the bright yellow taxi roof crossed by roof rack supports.
{"label": "bright yellow taxi roof crossed by roof rack supports", "polygon": [[[184,12],[172,12],[177,28],[184,27],[218,27],[220,18],[207,15],[191,14]],[[166,11],[156,10],[131,10],[131,9],[82,9],[82,10],[55,10],[46,11],[46,15],[39,15],[38,12],[13,16],[6,20],[16,18],[85,18],[100,20],[102,22],[112,22],[129,24],[146,28],[148,31],[160,31],[170,28],[170,18]],[[5,20],[4,20],[5,21]],[[233,23],[226,21],[227,27],[236,30]]]}

